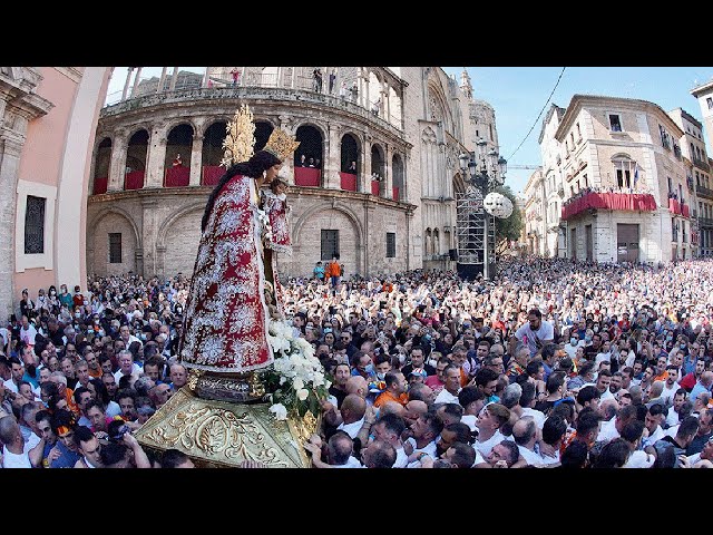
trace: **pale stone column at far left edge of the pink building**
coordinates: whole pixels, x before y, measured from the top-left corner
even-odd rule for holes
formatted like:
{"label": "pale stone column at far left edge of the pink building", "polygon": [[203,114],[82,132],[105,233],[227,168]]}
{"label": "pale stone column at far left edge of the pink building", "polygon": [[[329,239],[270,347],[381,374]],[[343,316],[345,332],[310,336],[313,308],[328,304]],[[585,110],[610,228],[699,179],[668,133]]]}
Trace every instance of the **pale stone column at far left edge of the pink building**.
{"label": "pale stone column at far left edge of the pink building", "polygon": [[[12,275],[14,272],[14,210],[23,143],[20,138],[10,139],[8,134],[2,133],[0,145],[3,145],[3,154],[0,158],[0,187],[6,192],[0,196],[0,233],[4,236],[0,240],[0,314],[7,319],[14,310],[14,299],[19,304],[19,296],[14,296],[12,288]],[[46,232],[52,232],[51,227]]]}

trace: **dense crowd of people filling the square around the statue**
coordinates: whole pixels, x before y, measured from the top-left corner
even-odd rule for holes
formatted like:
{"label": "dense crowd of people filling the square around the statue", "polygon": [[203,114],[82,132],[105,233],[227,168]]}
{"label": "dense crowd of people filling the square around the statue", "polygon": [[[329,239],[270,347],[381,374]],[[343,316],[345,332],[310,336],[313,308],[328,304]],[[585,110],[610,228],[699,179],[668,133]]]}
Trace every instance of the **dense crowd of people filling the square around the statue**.
{"label": "dense crowd of people filling the square around the statue", "polygon": [[[282,284],[332,382],[304,445],[318,468],[713,467],[711,261]],[[192,466],[131,435],[186,383],[188,289],[129,274],[23,292],[0,329],[3,466]]]}

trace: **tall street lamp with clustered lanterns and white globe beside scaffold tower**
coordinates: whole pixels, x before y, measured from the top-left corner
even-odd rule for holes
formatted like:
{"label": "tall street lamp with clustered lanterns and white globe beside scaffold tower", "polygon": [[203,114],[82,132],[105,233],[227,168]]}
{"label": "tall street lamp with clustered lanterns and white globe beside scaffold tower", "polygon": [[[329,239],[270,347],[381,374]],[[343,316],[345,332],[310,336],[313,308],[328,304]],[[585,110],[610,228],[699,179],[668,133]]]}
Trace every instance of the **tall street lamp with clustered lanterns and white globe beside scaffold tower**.
{"label": "tall street lamp with clustered lanterns and white globe beside scaffold tower", "polygon": [[[504,195],[495,193],[496,188],[505,184],[507,160],[495,148],[487,150],[487,147],[488,142],[480,138],[476,142],[475,152],[462,153],[458,159],[466,181],[482,194],[482,206],[486,211],[482,274],[486,279],[492,279],[495,263],[491,264],[490,259],[495,260],[495,217],[508,217],[512,211],[512,203]],[[492,232],[492,245],[489,232]]]}

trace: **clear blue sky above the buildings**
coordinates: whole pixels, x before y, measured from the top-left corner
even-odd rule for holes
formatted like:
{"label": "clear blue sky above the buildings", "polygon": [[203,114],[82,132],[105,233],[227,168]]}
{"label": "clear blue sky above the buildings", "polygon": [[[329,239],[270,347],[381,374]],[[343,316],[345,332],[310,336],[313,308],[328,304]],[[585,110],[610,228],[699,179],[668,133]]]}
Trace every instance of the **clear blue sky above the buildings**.
{"label": "clear blue sky above the buildings", "polygon": [[[205,67],[180,67],[182,70],[205,72]],[[551,100],[543,106],[551,93],[561,67],[467,67],[473,97],[488,101],[496,114],[500,153],[509,164],[539,165],[537,138],[543,117],[550,104],[567,107],[573,95],[587,94],[649,100],[670,111],[683,108],[702,120],[699,103],[690,94],[696,85],[713,78],[713,67],[567,67]],[[168,68],[168,74],[173,70]],[[443,67],[460,82],[462,67]],[[116,103],[126,80],[126,67],[116,67],[107,103]],[[141,78],[160,76],[160,67],[145,67]],[[533,132],[515,152],[535,124]],[[704,132],[704,135],[706,133]],[[710,145],[709,145],[710,146]],[[515,154],[514,154],[515,153]],[[529,169],[508,168],[506,184],[521,192],[533,174]]]}

